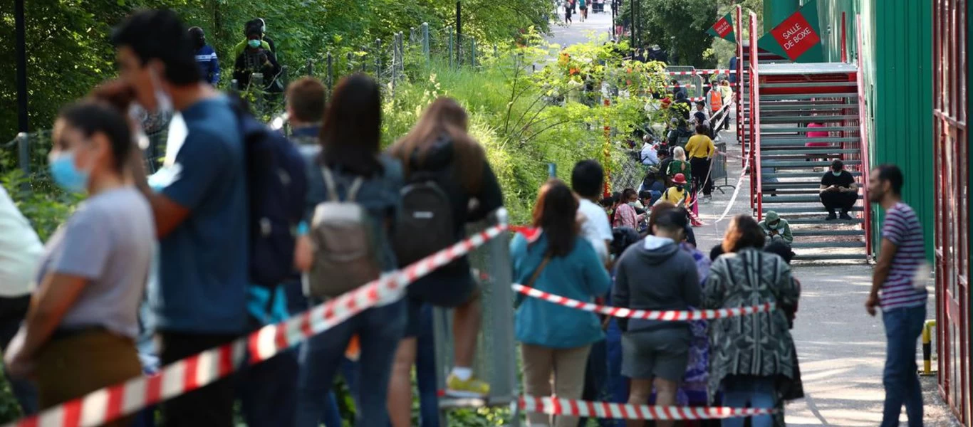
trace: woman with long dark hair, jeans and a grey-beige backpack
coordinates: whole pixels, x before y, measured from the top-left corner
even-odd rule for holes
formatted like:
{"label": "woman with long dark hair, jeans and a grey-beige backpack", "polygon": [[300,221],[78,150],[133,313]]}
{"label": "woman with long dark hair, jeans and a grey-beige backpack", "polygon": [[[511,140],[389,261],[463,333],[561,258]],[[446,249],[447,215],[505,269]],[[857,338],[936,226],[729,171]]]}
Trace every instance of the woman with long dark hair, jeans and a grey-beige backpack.
{"label": "woman with long dark hair, jeans and a grey-beige backpack", "polygon": [[[374,238],[375,258],[381,271],[398,265],[390,233],[399,209],[402,167],[378,150],[381,99],[378,84],[357,74],[335,89],[321,126],[321,155],[307,164],[307,214],[311,223],[319,203],[336,198],[360,205]],[[309,237],[298,241],[296,264],[311,271],[318,262]],[[327,285],[327,284],[324,284]],[[313,288],[311,284],[309,288]],[[319,300],[320,298],[316,298]],[[385,427],[385,397],[395,346],[406,327],[406,302],[369,308],[332,329],[314,336],[301,348],[298,378],[297,425],[317,427],[326,406],[344,349],[353,335],[359,337],[357,419],[355,425]]]}

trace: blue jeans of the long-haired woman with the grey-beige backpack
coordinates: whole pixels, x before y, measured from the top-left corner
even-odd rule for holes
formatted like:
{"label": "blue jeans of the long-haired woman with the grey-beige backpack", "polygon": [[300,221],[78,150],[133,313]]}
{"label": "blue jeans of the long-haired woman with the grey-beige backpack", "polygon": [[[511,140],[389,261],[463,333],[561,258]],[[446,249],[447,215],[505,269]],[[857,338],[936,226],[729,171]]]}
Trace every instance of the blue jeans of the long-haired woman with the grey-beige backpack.
{"label": "blue jeans of the long-haired woman with the grey-beige backpack", "polygon": [[361,344],[358,360],[356,426],[387,427],[388,377],[395,350],[406,328],[406,302],[369,308],[318,334],[301,347],[298,378],[297,427],[318,427],[328,405],[335,374],[341,367],[344,349],[352,335]]}

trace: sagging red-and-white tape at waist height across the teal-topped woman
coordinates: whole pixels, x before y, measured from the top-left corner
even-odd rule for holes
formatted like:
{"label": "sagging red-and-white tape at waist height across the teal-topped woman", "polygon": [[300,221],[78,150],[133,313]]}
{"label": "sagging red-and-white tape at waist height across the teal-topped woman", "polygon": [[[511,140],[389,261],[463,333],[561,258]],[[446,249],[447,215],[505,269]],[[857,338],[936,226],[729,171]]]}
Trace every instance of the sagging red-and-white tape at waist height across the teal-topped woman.
{"label": "sagging red-and-white tape at waist height across the teal-topped woman", "polygon": [[607,305],[598,305],[592,302],[571,300],[569,298],[549,294],[547,292],[516,283],[513,285],[513,287],[515,291],[520,292],[527,297],[544,300],[546,302],[554,302],[559,305],[577,308],[579,310],[592,311],[615,317],[627,317],[630,319],[667,321],[712,320],[742,316],[745,314],[769,312],[775,309],[775,304],[773,302],[768,302],[762,305],[754,305],[749,307],[719,308],[715,310],[633,310],[631,308],[612,307]]}

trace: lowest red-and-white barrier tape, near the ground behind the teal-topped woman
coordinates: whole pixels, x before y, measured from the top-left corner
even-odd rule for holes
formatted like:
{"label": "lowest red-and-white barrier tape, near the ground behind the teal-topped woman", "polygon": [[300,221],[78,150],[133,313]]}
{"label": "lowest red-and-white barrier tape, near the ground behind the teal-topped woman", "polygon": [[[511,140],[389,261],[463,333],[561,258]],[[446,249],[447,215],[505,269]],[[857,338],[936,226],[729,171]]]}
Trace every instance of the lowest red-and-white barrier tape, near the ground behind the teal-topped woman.
{"label": "lowest red-and-white barrier tape, near the ground behind the teal-topped woman", "polygon": [[551,415],[584,416],[614,419],[697,420],[768,415],[775,409],[723,407],[654,407],[649,405],[611,404],[557,397],[522,396],[521,409]]}

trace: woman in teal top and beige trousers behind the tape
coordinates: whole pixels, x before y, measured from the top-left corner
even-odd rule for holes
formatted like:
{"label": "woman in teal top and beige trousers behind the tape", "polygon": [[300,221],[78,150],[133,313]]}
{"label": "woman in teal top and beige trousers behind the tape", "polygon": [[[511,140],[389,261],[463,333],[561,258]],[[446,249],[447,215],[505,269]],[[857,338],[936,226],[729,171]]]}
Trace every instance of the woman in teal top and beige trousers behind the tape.
{"label": "woman in teal top and beige trousers behind the tape", "polygon": [[[579,234],[578,200],[563,182],[545,184],[534,205],[530,237],[510,243],[517,283],[583,302],[608,292],[611,279],[595,248]],[[592,343],[604,338],[595,313],[519,297],[514,332],[521,341],[523,389],[531,396],[578,399]],[[554,390],[551,375],[554,374]],[[529,425],[575,427],[578,418],[530,413]]]}

